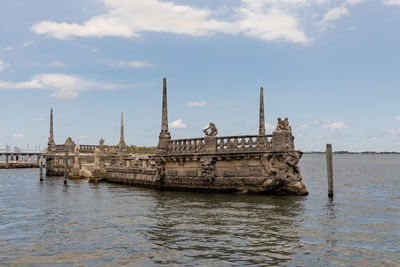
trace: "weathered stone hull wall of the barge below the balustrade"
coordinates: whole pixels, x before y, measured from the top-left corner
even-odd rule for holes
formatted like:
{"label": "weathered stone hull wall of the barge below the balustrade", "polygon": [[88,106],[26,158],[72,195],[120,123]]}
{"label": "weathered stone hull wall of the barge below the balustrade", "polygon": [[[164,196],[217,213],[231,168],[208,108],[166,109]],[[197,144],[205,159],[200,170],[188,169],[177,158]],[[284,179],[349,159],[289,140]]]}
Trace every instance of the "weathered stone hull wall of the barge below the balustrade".
{"label": "weathered stone hull wall of the barge below the balustrade", "polygon": [[167,157],[165,161],[152,157],[147,167],[107,168],[104,180],[178,190],[305,195],[297,165],[300,157],[296,151]]}

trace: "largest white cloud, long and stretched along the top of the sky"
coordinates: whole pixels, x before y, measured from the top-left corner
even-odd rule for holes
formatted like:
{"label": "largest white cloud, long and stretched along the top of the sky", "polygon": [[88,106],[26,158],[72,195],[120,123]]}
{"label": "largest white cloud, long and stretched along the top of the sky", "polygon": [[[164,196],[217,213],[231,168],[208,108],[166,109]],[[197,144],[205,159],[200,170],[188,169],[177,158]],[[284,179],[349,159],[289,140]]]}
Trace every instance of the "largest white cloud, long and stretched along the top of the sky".
{"label": "largest white cloud, long and stretched along the top of the sky", "polygon": [[[266,41],[306,43],[296,15],[275,5],[276,1],[242,1],[232,7],[232,17],[217,20],[218,11],[160,0],[102,0],[108,12],[82,24],[41,21],[32,31],[58,39],[73,37],[139,37],[143,32],[210,36],[244,34]],[[284,2],[304,2],[299,0]]]}

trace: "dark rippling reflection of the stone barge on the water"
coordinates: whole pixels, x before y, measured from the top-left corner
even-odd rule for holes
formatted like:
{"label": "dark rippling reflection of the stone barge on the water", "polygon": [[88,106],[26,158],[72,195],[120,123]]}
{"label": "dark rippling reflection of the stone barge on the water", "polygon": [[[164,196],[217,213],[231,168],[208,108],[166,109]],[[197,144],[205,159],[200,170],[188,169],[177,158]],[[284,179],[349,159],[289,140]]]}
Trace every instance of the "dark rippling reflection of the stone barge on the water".
{"label": "dark rippling reflection of the stone barge on the water", "polygon": [[[156,225],[148,238],[190,257],[168,263],[279,264],[299,245],[303,197],[163,192],[155,195]],[[160,262],[155,262],[160,263]]]}

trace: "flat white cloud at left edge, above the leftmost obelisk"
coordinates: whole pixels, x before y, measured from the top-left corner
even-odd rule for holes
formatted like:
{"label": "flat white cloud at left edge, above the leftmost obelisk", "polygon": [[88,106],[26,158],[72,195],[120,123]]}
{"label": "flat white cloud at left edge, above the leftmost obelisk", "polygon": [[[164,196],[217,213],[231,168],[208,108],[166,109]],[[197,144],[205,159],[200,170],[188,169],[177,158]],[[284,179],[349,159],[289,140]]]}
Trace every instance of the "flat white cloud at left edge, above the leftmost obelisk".
{"label": "flat white cloud at left edge, above the leftmost obelisk", "polygon": [[34,75],[30,81],[16,83],[0,80],[0,89],[49,90],[51,91],[50,96],[58,99],[77,98],[82,91],[113,90],[121,87],[132,88],[134,86],[94,82],[65,74],[38,74]]}

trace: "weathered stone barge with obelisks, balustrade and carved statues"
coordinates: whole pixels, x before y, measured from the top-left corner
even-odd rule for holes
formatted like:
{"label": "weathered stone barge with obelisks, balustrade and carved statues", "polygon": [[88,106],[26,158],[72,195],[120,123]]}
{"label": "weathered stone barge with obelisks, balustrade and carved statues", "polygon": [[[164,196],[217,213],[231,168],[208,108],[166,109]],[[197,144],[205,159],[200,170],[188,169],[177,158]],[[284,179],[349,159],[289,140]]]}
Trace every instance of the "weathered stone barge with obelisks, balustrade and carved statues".
{"label": "weathered stone barge with obelisks, balustrade and carved statues", "polygon": [[[288,119],[278,118],[276,130],[265,133],[263,89],[260,89],[258,135],[218,136],[213,123],[205,137],[171,139],[168,130],[167,86],[163,81],[162,122],[157,152],[148,157],[126,153],[121,115],[120,143],[105,146],[76,145],[69,138],[55,145],[51,112],[46,174],[88,177],[129,185],[161,189],[307,195],[298,162],[302,152],[294,149]],[[65,166],[65,150],[68,155]]]}

